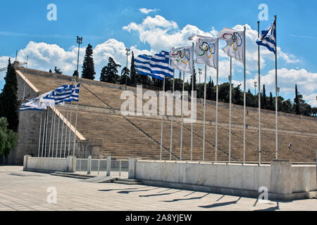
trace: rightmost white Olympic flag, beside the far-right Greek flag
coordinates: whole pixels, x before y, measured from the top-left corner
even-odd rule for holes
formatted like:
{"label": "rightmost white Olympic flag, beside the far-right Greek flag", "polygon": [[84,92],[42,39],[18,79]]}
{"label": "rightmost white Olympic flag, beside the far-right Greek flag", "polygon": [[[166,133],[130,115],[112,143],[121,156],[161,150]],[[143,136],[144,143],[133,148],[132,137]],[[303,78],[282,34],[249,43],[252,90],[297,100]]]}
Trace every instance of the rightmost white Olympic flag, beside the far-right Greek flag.
{"label": "rightmost white Olympic flag, beside the far-right Greek flag", "polygon": [[244,31],[223,28],[218,34],[219,39],[227,42],[223,51],[230,57],[244,63]]}

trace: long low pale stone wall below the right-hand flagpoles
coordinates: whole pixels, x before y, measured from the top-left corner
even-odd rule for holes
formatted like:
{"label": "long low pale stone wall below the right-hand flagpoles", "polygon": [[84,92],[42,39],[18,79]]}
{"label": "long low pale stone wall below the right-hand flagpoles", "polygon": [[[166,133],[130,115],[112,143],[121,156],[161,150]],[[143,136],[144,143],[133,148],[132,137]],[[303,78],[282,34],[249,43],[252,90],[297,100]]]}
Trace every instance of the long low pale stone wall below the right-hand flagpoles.
{"label": "long low pale stone wall below the right-hand flagpoles", "polygon": [[192,191],[258,198],[263,188],[269,199],[295,200],[317,195],[316,165],[271,165],[165,162],[130,158],[129,178],[143,184]]}

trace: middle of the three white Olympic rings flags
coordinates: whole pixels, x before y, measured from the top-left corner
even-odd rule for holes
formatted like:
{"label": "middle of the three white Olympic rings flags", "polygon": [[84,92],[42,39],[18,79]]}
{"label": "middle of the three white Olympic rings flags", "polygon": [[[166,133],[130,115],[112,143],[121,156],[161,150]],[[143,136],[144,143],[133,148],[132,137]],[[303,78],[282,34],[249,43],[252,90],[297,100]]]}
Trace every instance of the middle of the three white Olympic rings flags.
{"label": "middle of the three white Olympic rings flags", "polygon": [[188,38],[196,42],[196,63],[203,63],[211,68],[218,69],[218,38],[196,34]]}

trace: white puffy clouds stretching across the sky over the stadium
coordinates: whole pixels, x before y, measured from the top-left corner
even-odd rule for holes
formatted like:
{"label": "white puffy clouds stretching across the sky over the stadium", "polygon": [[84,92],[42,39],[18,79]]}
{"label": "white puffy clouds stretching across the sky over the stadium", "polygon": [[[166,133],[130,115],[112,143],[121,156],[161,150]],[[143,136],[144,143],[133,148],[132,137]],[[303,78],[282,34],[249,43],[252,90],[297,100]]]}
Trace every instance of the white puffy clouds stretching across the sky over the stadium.
{"label": "white puffy clouds stretching across the sky over the stadium", "polygon": [[[139,9],[141,11],[141,9]],[[147,10],[148,13],[151,10]],[[144,13],[147,11],[144,10]],[[153,10],[152,10],[153,11]],[[242,30],[244,25],[236,25],[232,27],[236,30]],[[257,31],[252,30],[249,25],[245,25],[246,34],[246,46],[247,46],[247,89],[254,90],[254,81],[257,81],[257,46],[255,40],[257,38]],[[187,39],[193,34],[202,34],[206,36],[215,37],[218,34],[218,30],[213,27],[211,30],[203,31],[199,27],[194,25],[185,25],[179,27],[173,20],[167,20],[161,15],[154,15],[153,17],[147,16],[141,23],[129,23],[123,26],[123,30],[126,32],[137,32],[139,40],[144,44],[148,44],[149,50],[138,49],[138,46],[125,46],[125,44],[116,39],[108,39],[101,44],[97,44],[94,47],[94,63],[96,70],[96,79],[99,79],[101,68],[108,63],[108,57],[113,57],[117,63],[120,63],[122,67],[126,63],[125,48],[131,49],[135,53],[135,56],[141,53],[153,54],[161,50],[169,51],[172,46],[180,46],[183,44],[190,44]],[[223,48],[225,43],[220,41],[220,48]],[[82,46],[80,49],[80,64],[85,56],[86,46]],[[18,60],[23,61],[26,57],[29,57],[29,68],[35,68],[37,70],[45,70],[61,68],[64,74],[73,75],[77,66],[77,46],[70,46],[68,49],[63,49],[56,44],[46,44],[44,42],[30,41],[24,49],[18,51]],[[294,85],[297,84],[299,91],[306,97],[311,105],[316,106],[316,100],[314,96],[317,96],[317,73],[309,72],[304,68],[293,69],[295,63],[299,62],[299,59],[292,54],[285,53],[278,47],[279,61],[285,63],[287,68],[280,68],[278,70],[278,84],[281,89],[281,95],[290,94],[294,92]],[[265,68],[273,63],[274,56],[270,51],[261,48],[261,68]],[[129,60],[130,61],[130,60]],[[233,73],[242,71],[242,64],[236,60],[233,62]],[[6,65],[8,63],[8,56],[0,56],[0,65]],[[226,79],[230,72],[230,65],[228,57],[225,56],[223,51],[220,51],[220,78]],[[1,67],[1,66],[0,66]],[[4,67],[4,66],[2,66]],[[202,68],[202,65],[197,65],[197,68]],[[119,71],[120,71],[119,70]],[[81,65],[80,65],[81,71]],[[0,73],[0,79],[3,79],[5,72]],[[209,75],[216,75],[216,72],[209,69]],[[242,80],[236,80],[232,77],[235,84],[242,83]],[[198,80],[198,79],[197,79]],[[266,84],[266,90],[273,91],[275,85],[275,72],[269,70],[266,74],[261,75],[261,84]],[[243,89],[243,86],[242,86]]]}

